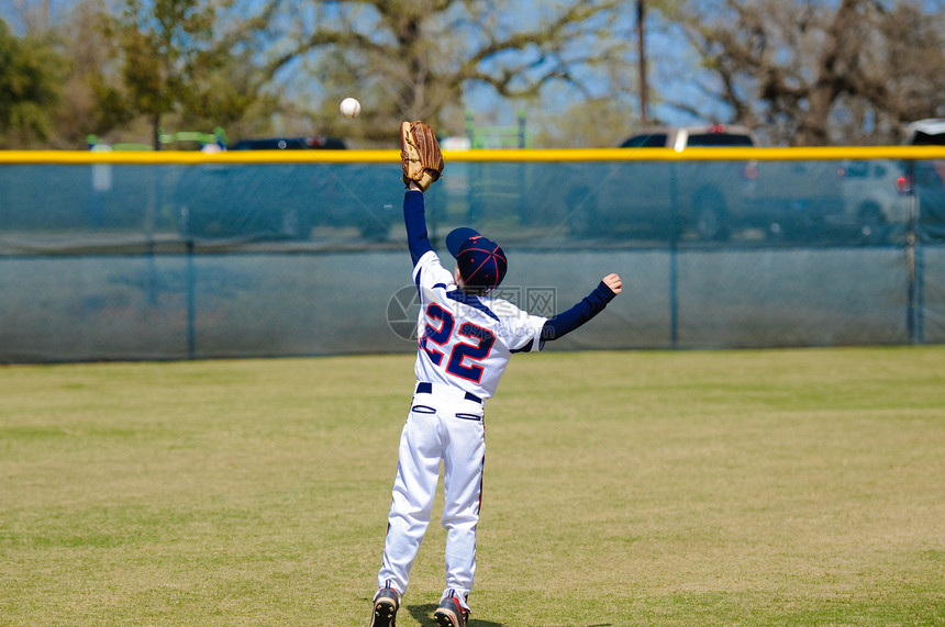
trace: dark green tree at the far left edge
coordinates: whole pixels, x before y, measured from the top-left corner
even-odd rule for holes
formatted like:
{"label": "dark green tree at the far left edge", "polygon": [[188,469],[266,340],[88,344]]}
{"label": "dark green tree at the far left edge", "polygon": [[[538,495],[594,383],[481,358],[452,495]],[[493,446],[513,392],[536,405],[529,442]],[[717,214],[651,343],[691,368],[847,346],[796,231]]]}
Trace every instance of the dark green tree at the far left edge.
{"label": "dark green tree at the far left edge", "polygon": [[0,20],[0,147],[26,147],[52,132],[63,60],[42,37],[18,38]]}

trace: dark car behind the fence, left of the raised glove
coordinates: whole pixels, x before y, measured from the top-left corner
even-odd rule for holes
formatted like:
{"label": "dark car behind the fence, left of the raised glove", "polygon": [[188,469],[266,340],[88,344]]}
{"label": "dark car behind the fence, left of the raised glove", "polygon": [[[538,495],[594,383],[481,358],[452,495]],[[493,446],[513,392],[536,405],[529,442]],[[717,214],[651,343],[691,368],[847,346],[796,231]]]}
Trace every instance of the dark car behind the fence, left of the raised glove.
{"label": "dark car behind the fence, left of the raised glove", "polygon": [[[343,149],[343,141],[321,136],[244,139],[227,148]],[[309,239],[316,226],[355,227],[366,239],[385,239],[399,204],[399,186],[391,184],[398,171],[383,164],[187,166],[175,194],[178,228],[209,239]]]}

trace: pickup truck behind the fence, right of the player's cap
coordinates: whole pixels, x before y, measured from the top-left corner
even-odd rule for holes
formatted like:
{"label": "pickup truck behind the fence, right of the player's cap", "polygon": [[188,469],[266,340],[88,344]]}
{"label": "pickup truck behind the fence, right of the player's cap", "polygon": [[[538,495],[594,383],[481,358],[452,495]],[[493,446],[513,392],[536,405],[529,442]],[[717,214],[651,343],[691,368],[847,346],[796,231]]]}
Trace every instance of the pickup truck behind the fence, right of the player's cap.
{"label": "pickup truck behind the fence, right of the player's cap", "polygon": [[[745,126],[711,124],[642,131],[620,147],[645,150],[759,146]],[[593,164],[569,204],[572,232],[603,225],[663,238],[727,239],[759,228],[776,237],[821,229],[842,204],[835,167],[815,161],[680,160]]]}

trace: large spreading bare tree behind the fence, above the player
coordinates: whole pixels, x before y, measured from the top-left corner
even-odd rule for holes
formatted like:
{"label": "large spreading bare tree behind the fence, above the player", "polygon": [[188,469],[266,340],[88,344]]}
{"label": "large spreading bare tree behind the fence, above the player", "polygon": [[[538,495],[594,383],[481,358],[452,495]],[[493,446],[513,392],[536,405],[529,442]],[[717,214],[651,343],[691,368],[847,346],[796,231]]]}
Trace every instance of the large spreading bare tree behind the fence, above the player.
{"label": "large spreading bare tree behind the fence, above the player", "polygon": [[[522,103],[557,86],[583,99],[599,94],[598,70],[634,74],[633,15],[620,0],[270,0],[266,10],[269,76],[287,93],[315,94],[320,126],[366,139],[389,142],[401,120],[462,133],[477,91]],[[365,104],[356,128],[337,115],[345,96]]]}

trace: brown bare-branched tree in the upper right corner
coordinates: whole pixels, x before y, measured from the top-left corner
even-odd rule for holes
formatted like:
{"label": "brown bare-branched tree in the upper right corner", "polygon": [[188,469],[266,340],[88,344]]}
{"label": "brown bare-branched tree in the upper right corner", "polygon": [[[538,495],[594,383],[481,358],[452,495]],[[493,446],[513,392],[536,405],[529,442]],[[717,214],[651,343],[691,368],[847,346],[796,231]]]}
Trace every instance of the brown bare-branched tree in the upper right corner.
{"label": "brown bare-branched tree in the upper right corner", "polygon": [[720,0],[674,15],[711,77],[700,85],[770,143],[890,143],[943,113],[945,12],[931,4]]}

